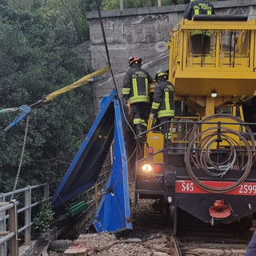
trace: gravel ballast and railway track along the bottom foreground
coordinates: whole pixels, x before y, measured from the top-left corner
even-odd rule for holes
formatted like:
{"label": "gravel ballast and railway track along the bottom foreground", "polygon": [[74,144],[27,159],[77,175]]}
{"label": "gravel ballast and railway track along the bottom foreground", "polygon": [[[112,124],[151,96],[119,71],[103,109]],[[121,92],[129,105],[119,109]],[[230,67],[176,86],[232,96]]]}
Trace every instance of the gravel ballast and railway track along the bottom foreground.
{"label": "gravel ballast and railway track along the bottom foreground", "polygon": [[[78,243],[90,247],[91,256],[243,256],[252,232],[237,226],[210,226],[178,212],[177,234],[172,235],[162,214],[154,211],[154,200],[139,200],[134,207],[134,229],[124,234],[82,234]],[[50,256],[63,254],[50,254]]]}

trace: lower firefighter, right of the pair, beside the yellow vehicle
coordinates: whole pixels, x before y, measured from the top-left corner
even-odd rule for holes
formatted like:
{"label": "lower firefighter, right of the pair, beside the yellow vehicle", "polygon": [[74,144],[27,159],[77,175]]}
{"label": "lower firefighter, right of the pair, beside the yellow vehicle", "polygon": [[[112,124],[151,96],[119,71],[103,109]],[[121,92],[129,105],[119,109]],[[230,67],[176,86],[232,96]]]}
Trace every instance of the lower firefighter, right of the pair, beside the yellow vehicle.
{"label": "lower firefighter, right of the pair, beside the yellow vehicle", "polygon": [[[174,118],[174,86],[167,81],[167,77],[168,74],[163,70],[158,70],[155,75],[158,85],[154,89],[150,117],[153,120],[158,118],[159,123],[167,122]],[[168,135],[170,135],[169,126],[169,124],[166,126]],[[164,126],[161,127],[161,130],[164,133]]]}

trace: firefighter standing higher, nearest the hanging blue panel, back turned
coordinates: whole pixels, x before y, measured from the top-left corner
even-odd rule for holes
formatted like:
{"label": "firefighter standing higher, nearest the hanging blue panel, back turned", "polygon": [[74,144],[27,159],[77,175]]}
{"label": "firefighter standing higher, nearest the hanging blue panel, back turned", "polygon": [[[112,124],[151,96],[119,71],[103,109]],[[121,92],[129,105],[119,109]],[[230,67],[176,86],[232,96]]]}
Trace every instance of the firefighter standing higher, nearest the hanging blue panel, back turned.
{"label": "firefighter standing higher, nearest the hanging blue panel, back turned", "polygon": [[149,90],[148,84],[153,82],[150,74],[141,68],[142,58],[130,57],[129,66],[123,79],[122,98],[125,103],[130,102],[130,108],[134,115],[136,134],[146,130],[146,114],[148,110]]}

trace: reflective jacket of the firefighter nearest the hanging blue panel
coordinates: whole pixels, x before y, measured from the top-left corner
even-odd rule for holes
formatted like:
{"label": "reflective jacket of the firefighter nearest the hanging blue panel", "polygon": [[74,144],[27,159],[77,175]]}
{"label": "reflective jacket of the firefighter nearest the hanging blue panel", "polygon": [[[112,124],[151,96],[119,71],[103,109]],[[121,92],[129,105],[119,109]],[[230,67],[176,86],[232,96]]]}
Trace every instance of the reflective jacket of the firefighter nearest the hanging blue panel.
{"label": "reflective jacket of the firefighter nearest the hanging blue panel", "polygon": [[150,74],[134,63],[123,79],[122,96],[129,98],[130,104],[149,102],[148,84],[150,82],[153,82]]}

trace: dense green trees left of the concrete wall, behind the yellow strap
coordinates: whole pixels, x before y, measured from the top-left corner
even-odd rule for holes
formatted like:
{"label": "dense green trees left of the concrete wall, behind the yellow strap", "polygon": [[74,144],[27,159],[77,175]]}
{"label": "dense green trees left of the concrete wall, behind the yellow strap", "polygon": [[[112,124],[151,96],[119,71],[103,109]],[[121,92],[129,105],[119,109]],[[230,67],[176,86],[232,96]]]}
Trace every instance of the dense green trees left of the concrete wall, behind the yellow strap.
{"label": "dense green trees left of the concrete wall, behind the yellow strap", "polygon": [[[30,105],[86,74],[73,50],[82,29],[56,2],[0,0],[0,109]],[[33,110],[18,187],[58,186],[94,120],[91,98],[92,86],[83,86]],[[0,114],[0,192],[12,190],[22,151],[26,121],[3,131],[16,115]]]}

